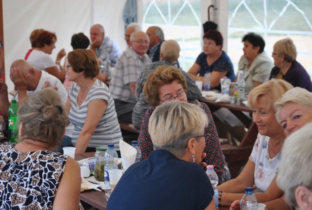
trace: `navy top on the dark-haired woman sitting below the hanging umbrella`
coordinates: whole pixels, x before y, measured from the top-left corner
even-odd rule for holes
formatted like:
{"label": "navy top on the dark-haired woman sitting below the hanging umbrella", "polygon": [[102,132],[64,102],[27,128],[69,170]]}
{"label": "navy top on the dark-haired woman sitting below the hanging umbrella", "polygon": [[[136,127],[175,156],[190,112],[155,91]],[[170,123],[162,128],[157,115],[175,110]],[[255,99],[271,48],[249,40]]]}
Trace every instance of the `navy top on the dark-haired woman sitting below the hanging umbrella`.
{"label": "navy top on the dark-haired woman sitting below the hanging umbrella", "polygon": [[[213,71],[218,71],[218,72],[228,71],[225,76],[229,78],[231,82],[234,82],[235,73],[234,73],[233,63],[231,59],[229,58],[229,56],[225,54],[223,50],[222,50],[221,56],[211,65],[208,65],[206,59],[207,59],[207,55],[205,53],[200,53],[195,61],[195,63],[200,65],[199,76],[203,77],[207,71],[210,73]],[[221,85],[219,84],[218,86],[215,87],[215,89],[221,91]]]}

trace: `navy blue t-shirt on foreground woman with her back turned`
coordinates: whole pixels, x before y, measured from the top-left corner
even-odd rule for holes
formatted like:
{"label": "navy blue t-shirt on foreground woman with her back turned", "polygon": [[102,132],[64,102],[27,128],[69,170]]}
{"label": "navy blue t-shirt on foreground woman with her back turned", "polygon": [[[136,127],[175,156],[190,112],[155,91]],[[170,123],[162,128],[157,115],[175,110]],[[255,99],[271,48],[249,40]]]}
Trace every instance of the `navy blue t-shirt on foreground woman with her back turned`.
{"label": "navy blue t-shirt on foreground woman with her back turned", "polygon": [[159,149],[127,169],[107,210],[204,210],[213,195],[203,168]]}

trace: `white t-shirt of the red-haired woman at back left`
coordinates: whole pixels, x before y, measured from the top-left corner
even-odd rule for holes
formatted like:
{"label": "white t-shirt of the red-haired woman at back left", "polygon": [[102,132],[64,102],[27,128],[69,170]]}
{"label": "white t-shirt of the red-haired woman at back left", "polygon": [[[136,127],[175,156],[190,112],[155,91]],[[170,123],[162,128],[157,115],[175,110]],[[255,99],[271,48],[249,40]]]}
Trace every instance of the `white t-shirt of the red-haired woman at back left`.
{"label": "white t-shirt of the red-haired woman at back left", "polygon": [[42,71],[45,71],[46,68],[57,66],[48,54],[35,49],[29,54],[27,61]]}

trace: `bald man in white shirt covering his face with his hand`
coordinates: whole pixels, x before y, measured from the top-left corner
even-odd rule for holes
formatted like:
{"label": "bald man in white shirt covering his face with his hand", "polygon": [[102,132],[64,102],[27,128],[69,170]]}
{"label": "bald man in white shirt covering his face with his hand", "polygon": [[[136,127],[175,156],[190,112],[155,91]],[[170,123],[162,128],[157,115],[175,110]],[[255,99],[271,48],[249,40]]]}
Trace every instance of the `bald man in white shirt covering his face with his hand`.
{"label": "bald man in white shirt covering his face with his hand", "polygon": [[[58,89],[62,102],[64,105],[66,104],[68,94],[59,79],[45,71],[36,69],[25,60],[17,60],[12,63],[10,78],[16,89],[13,99],[16,99],[19,105],[24,102],[28,94],[49,86]],[[8,117],[9,106],[8,87],[0,80],[0,110],[5,119]]]}

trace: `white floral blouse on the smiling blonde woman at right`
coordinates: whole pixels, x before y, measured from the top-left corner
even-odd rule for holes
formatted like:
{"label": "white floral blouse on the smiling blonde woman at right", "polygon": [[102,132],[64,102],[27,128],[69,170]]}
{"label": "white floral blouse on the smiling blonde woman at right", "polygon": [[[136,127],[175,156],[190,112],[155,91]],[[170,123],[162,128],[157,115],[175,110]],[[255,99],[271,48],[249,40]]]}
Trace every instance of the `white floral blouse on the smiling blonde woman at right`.
{"label": "white floral blouse on the smiling blonde woman at right", "polygon": [[255,164],[254,184],[261,191],[265,192],[276,176],[277,168],[281,161],[281,151],[272,159],[269,155],[270,137],[258,133],[254,143],[252,154],[249,157]]}

